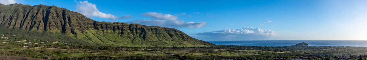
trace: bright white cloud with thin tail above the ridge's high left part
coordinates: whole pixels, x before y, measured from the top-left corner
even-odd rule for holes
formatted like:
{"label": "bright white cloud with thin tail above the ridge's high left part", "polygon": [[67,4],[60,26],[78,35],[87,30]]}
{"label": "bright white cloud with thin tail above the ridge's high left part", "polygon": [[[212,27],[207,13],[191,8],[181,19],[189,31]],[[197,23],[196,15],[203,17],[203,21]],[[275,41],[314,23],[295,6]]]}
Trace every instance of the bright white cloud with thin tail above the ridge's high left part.
{"label": "bright white cloud with thin tail above the ridge's high left part", "polygon": [[106,18],[106,19],[112,19],[112,20],[127,19],[127,18],[134,17],[130,15],[118,17],[118,16],[114,16],[109,13],[106,14],[106,13],[100,12],[98,11],[95,4],[89,3],[88,1],[79,1],[79,2],[75,1],[75,2],[77,5],[74,11],[79,12],[87,17],[100,17],[100,18]]}

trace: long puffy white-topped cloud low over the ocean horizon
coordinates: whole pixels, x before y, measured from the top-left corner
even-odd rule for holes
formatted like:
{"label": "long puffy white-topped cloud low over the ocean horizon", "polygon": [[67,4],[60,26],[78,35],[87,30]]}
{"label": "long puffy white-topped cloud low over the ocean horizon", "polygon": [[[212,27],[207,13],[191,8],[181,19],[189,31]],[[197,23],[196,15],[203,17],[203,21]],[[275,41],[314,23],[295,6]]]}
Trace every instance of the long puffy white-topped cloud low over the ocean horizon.
{"label": "long puffy white-topped cloud low over the ocean horizon", "polygon": [[260,28],[243,27],[242,29],[221,29],[213,32],[201,32],[195,35],[209,36],[212,40],[232,39],[232,40],[248,40],[248,39],[264,39],[275,37],[277,32],[263,30]]}

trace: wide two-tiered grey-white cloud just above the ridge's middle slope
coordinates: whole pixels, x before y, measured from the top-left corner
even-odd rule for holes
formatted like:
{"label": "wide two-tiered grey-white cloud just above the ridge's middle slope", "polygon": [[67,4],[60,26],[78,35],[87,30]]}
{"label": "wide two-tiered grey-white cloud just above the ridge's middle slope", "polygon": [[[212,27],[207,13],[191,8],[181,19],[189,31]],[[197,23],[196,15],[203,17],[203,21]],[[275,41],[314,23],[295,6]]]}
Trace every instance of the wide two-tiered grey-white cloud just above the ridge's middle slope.
{"label": "wide two-tiered grey-white cloud just above the ridge's middle slope", "polygon": [[[150,25],[150,26],[161,26],[161,27],[171,27],[171,28],[201,28],[204,27],[206,22],[185,22],[183,20],[179,20],[177,16],[170,14],[163,14],[157,12],[148,12],[141,14],[142,16],[153,18],[152,20],[134,20],[127,21],[125,23],[138,23],[142,25]],[[191,15],[189,15],[190,17]]]}

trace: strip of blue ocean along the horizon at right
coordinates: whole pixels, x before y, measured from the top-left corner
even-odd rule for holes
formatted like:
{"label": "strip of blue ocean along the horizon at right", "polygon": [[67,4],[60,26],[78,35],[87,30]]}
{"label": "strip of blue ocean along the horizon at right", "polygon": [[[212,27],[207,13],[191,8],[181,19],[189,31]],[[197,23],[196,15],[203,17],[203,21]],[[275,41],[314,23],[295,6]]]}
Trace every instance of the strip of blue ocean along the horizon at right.
{"label": "strip of blue ocean along the horizon at right", "polygon": [[305,42],[309,46],[353,46],[367,47],[367,40],[245,40],[245,41],[207,41],[221,45],[251,46],[291,46]]}

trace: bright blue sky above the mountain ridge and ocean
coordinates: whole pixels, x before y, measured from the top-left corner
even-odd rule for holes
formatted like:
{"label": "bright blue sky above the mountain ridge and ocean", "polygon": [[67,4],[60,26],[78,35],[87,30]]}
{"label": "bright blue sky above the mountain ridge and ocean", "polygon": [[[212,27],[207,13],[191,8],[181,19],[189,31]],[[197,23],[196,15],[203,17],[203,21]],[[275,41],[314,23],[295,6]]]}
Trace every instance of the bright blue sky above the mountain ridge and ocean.
{"label": "bright blue sky above the mountain ridge and ocean", "polygon": [[367,40],[367,0],[0,1],[55,5],[96,21],[177,28],[204,41]]}

